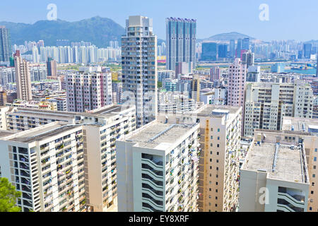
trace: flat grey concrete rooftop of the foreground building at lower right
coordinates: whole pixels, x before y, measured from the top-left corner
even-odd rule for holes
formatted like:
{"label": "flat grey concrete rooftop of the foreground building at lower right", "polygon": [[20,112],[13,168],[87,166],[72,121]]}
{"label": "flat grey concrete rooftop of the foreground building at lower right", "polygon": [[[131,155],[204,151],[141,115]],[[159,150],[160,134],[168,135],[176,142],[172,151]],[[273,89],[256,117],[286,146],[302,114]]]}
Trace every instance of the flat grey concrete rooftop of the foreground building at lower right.
{"label": "flat grey concrete rooftop of the foreground building at lower right", "polygon": [[[276,143],[261,143],[254,145],[247,155],[246,164],[242,169],[253,171],[266,171],[268,178],[289,182],[304,182],[303,172],[305,163],[302,162],[302,149],[290,145],[278,145],[276,153]],[[274,159],[276,158],[276,161]]]}

